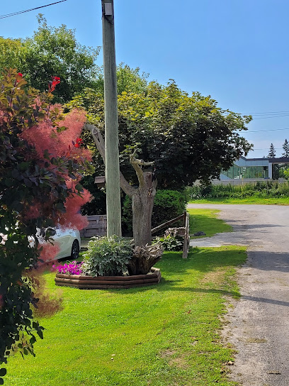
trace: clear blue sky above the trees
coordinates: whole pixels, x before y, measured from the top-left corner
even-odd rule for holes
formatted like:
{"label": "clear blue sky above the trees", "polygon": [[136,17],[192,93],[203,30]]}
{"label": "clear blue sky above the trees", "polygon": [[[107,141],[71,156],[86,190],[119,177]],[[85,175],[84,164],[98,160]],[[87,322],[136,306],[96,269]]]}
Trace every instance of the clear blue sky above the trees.
{"label": "clear blue sky above the trees", "polygon": [[[54,1],[1,1],[0,16]],[[32,36],[39,12],[50,26],[75,28],[82,45],[102,45],[101,0],[2,18],[0,35]],[[115,0],[116,60],[162,84],[175,79],[189,94],[210,94],[222,109],[253,114],[244,133],[254,143],[249,157],[268,155],[271,143],[280,156],[289,140],[288,14],[288,0]]]}

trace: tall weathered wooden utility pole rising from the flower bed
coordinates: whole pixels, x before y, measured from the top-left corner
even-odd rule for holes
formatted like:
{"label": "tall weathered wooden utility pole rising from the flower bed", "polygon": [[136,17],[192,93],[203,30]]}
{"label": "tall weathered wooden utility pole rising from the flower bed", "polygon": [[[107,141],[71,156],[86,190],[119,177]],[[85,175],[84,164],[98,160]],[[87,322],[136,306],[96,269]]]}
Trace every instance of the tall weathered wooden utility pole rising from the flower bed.
{"label": "tall weathered wooden utility pole rising from the flower bed", "polygon": [[121,236],[118,90],[116,83],[113,0],[101,0],[101,6],[103,26],[107,235]]}

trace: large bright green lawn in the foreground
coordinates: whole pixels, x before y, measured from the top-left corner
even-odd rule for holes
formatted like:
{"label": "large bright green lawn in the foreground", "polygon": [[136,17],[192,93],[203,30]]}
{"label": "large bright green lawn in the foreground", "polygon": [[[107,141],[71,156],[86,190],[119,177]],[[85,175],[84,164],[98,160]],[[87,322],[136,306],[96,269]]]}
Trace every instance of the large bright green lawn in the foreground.
{"label": "large bright green lawn in the foreground", "polygon": [[[42,319],[36,358],[16,353],[6,386],[232,386],[222,346],[224,295],[239,297],[235,267],[244,248],[194,248],[188,259],[164,253],[153,287],[80,290],[63,287],[64,309]],[[55,292],[55,275],[45,274]]]}

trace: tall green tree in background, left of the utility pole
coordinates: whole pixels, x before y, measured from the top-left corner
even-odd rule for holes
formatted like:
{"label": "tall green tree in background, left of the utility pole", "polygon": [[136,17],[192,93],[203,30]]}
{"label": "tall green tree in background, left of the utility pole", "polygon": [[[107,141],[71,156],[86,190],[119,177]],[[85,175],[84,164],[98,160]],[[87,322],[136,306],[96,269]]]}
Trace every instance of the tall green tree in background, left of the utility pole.
{"label": "tall green tree in background, left of the utility pole", "polygon": [[[21,43],[18,69],[32,87],[44,91],[47,79],[60,77],[62,82],[55,90],[55,101],[72,99],[84,87],[97,87],[99,82],[96,57],[99,48],[86,48],[77,43],[75,31],[63,25],[47,26],[46,19],[38,15],[38,31]],[[10,42],[11,43],[11,42]],[[15,45],[15,42],[12,42]],[[11,57],[8,57],[11,61]],[[5,67],[9,67],[6,65]]]}

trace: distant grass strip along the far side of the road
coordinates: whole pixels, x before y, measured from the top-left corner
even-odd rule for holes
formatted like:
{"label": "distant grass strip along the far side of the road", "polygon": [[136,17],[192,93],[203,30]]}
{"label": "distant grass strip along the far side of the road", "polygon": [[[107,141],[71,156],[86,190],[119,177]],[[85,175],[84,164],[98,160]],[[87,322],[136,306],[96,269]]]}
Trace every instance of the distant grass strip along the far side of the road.
{"label": "distant grass strip along the far side of the road", "polygon": [[197,199],[190,201],[190,204],[259,204],[259,205],[289,205],[289,197],[268,198],[248,197],[246,199],[237,198],[217,198],[217,199]]}

